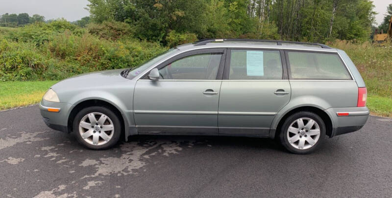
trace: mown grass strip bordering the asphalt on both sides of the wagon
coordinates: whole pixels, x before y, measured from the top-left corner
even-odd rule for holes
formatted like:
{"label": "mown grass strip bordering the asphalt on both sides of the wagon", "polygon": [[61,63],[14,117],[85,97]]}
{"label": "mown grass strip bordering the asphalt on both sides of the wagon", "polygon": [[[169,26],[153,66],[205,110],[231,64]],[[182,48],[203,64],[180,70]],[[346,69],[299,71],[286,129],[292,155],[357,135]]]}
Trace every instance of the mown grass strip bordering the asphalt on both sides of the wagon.
{"label": "mown grass strip bordering the asphalt on both sides of the wagon", "polygon": [[[58,81],[0,82],[0,110],[38,103],[45,91]],[[368,95],[367,106],[374,115],[392,117],[392,98]]]}

